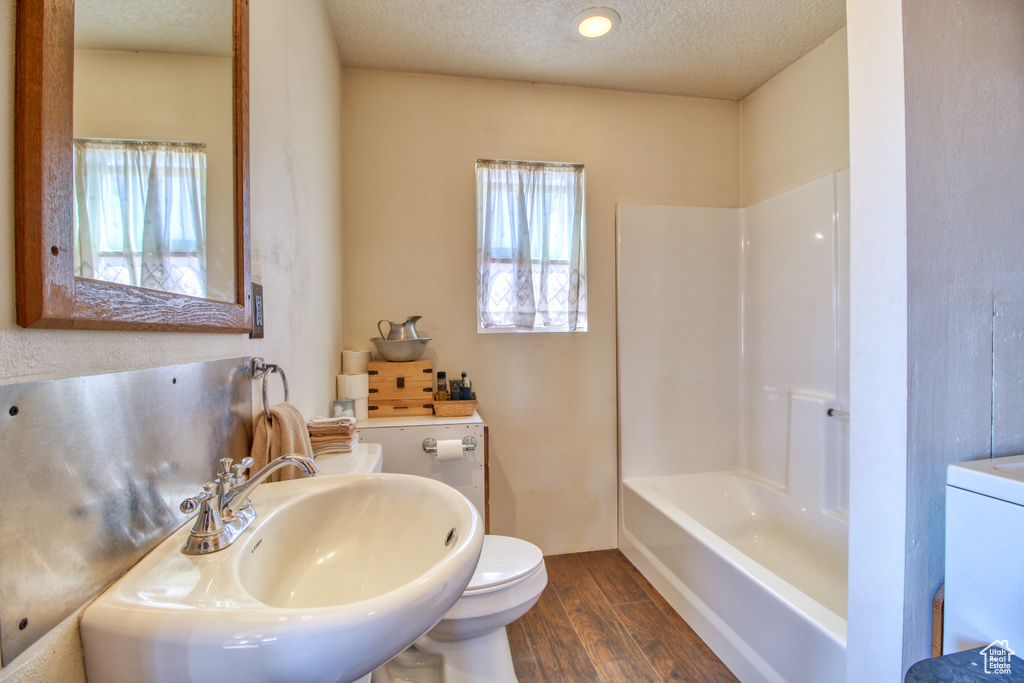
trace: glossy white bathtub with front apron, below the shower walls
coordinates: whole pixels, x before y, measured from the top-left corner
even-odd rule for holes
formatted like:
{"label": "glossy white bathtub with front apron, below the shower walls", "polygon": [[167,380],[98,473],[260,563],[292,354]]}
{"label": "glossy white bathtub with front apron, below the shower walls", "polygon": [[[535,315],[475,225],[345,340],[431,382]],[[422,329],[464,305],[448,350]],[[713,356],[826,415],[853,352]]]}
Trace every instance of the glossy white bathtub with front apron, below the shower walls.
{"label": "glossy white bathtub with front apron, below the shower walls", "polygon": [[743,683],[846,681],[847,524],[742,472],[623,482],[623,552]]}

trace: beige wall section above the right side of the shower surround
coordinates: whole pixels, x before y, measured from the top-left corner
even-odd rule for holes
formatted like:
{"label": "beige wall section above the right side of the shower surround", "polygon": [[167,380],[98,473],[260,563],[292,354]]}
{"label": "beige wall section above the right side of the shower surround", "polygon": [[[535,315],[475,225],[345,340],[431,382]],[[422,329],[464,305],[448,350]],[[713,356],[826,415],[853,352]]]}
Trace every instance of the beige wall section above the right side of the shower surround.
{"label": "beige wall section above the right side of the shower surround", "polygon": [[742,101],[741,206],[850,166],[846,28]]}

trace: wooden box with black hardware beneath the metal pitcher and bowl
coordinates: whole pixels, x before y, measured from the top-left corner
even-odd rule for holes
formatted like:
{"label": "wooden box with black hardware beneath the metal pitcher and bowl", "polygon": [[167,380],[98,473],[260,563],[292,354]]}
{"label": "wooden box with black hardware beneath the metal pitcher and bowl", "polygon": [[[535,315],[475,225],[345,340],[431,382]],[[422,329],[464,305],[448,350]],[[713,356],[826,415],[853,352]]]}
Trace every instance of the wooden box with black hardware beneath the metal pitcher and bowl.
{"label": "wooden box with black hardware beneath the metal pitcher and bowl", "polygon": [[434,364],[432,360],[390,362],[371,360],[370,417],[432,415],[434,410]]}

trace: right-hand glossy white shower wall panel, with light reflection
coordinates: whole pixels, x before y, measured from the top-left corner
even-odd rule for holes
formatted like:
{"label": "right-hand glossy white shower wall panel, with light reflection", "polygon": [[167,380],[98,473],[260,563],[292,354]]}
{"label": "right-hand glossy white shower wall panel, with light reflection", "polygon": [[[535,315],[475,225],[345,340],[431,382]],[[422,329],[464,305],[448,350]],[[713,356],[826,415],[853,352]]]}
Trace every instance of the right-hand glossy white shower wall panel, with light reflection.
{"label": "right-hand glossy white shower wall panel, with light reflection", "polygon": [[790,394],[837,393],[836,174],[743,212],[744,469],[787,484]]}

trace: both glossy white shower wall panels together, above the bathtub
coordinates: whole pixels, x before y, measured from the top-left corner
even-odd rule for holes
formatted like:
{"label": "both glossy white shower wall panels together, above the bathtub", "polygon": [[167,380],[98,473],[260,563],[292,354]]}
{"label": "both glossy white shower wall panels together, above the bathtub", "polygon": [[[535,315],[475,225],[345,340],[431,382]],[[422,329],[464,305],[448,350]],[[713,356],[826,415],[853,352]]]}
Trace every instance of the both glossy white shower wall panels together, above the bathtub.
{"label": "both glossy white shower wall panels together, above the bathtub", "polygon": [[623,479],[786,488],[796,395],[838,412],[810,431],[824,507],[848,508],[849,211],[848,171],[746,209],[617,207]]}

